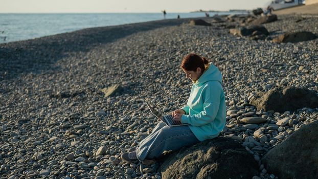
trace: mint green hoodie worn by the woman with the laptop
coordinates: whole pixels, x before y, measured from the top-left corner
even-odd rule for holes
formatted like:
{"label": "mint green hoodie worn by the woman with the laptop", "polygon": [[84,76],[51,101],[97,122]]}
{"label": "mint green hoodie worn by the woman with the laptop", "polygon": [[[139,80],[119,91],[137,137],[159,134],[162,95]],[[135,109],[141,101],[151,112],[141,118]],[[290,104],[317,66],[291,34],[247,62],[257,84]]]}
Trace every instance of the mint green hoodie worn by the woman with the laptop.
{"label": "mint green hoodie worn by the woman with the laptop", "polygon": [[199,141],[219,135],[225,125],[225,98],[221,72],[211,63],[209,68],[193,82],[186,111],[181,123],[189,124]]}

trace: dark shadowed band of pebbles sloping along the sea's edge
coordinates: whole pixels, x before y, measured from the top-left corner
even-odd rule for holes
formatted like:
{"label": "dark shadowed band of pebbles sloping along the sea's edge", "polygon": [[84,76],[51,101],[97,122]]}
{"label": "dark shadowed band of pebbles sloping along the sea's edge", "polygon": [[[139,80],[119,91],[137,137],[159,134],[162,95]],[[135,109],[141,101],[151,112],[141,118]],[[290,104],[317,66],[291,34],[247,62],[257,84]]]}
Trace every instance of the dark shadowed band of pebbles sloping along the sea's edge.
{"label": "dark shadowed band of pebbles sloping along the sea's edge", "polygon": [[[78,52],[86,53],[96,47],[112,43],[135,33],[147,32],[158,28],[179,26],[183,23],[187,23],[190,19],[205,18],[207,17],[163,19],[125,25],[86,28],[35,39],[0,43],[0,63],[4,64],[0,67],[0,72],[6,74],[6,77],[0,75],[0,81],[7,78],[15,78],[15,76],[17,76],[16,74],[34,71],[33,66],[36,65],[34,63],[39,64],[40,71],[43,69],[48,70],[56,61],[64,58],[65,54]],[[53,58],[51,58],[49,62],[42,61],[41,58],[47,55],[53,56]],[[6,58],[17,59],[19,56],[27,57],[25,61],[26,64],[20,64],[18,61],[21,59],[9,62],[6,61]],[[45,65],[46,63],[48,63],[49,66]],[[10,75],[11,72],[9,69],[11,66],[16,68],[13,75]]]}

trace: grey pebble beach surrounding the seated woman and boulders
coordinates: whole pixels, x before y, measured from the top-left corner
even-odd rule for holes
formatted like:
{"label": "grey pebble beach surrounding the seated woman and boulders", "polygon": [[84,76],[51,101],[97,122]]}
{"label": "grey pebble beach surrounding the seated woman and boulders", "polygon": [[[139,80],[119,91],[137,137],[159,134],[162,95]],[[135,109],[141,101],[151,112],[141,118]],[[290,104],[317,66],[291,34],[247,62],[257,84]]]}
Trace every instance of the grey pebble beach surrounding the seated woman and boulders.
{"label": "grey pebble beach surrounding the seated woman and boulders", "polygon": [[[254,155],[256,179],[278,178],[266,171],[262,156],[317,121],[318,108],[278,113],[257,110],[249,100],[280,86],[318,92],[318,39],[250,40],[226,28],[240,22],[220,18],[224,22],[199,18],[212,26],[166,19],[0,44],[0,177],[161,178],[158,163],[128,164],[120,154],[159,122],[145,100],[163,114],[187,103],[192,82],[179,64],[196,53],[223,76],[227,114],[220,135],[240,141]],[[318,34],[314,15],[279,15],[263,26],[271,38]],[[113,84],[122,92],[105,98],[101,89]],[[246,117],[266,121],[240,122]]]}

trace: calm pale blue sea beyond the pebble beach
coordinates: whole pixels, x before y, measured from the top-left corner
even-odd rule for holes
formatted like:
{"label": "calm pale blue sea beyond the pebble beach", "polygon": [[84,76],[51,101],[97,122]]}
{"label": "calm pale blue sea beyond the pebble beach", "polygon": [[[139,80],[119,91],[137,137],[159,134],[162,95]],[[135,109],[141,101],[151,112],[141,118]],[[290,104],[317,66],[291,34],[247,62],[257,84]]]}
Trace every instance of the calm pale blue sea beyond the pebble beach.
{"label": "calm pale blue sea beyond the pebble beach", "polygon": [[[213,16],[215,13],[209,13]],[[230,13],[218,13],[230,14]],[[203,17],[204,13],[167,13],[166,18]],[[84,28],[164,19],[162,13],[0,14],[0,43],[32,39]]]}

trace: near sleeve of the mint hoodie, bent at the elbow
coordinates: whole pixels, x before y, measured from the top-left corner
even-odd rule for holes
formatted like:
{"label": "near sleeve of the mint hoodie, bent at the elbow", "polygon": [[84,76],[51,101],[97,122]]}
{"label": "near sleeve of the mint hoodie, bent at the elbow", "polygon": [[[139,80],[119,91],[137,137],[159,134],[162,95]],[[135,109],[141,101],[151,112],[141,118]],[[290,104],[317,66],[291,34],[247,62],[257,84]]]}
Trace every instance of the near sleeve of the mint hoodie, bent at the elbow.
{"label": "near sleeve of the mint hoodie, bent at the elbow", "polygon": [[202,126],[212,122],[219,110],[222,88],[218,85],[208,85],[202,93],[203,110],[196,115],[182,115],[181,123],[187,123],[193,126]]}

